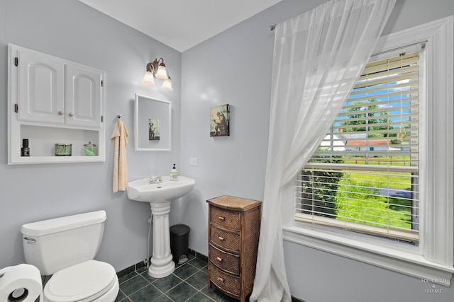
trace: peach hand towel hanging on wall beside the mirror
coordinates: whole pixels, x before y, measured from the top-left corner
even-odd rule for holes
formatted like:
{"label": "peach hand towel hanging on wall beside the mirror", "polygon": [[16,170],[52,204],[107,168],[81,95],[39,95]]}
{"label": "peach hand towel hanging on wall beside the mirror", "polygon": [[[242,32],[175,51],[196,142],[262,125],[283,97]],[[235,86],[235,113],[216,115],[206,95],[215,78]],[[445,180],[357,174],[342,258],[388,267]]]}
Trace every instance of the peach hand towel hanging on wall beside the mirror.
{"label": "peach hand towel hanging on wall beside the mirror", "polygon": [[114,156],[114,193],[126,190],[128,182],[128,166],[126,164],[126,145],[128,144],[128,132],[123,120],[118,118],[111,137],[115,145]]}

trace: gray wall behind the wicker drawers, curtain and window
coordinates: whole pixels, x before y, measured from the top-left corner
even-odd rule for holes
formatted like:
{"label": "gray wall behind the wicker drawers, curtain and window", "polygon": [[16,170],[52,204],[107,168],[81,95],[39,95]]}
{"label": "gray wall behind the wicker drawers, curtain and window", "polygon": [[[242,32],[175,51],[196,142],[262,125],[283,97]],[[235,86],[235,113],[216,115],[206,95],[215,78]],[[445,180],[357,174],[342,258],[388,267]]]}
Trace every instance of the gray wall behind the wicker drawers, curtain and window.
{"label": "gray wall behind the wicker drawers, curtain and window", "polygon": [[[274,34],[269,25],[325,1],[284,0],[182,54],[182,165],[196,192],[182,220],[196,229],[192,248],[206,253],[205,199],[262,199],[267,156]],[[450,0],[397,0],[385,33],[454,14]],[[209,108],[230,103],[231,136],[209,137]],[[283,134],[284,135],[284,134]],[[189,158],[199,158],[197,167]],[[453,301],[454,289],[425,294],[420,279],[284,242],[292,295],[307,302]]]}

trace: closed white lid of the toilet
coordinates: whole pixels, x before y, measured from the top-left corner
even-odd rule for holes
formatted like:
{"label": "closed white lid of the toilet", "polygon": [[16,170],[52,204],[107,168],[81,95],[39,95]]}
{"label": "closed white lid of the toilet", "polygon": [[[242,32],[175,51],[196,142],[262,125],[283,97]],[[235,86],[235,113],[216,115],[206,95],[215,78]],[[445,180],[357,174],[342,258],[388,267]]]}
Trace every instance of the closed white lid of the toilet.
{"label": "closed white lid of the toilet", "polygon": [[115,280],[114,267],[89,260],[53,274],[44,287],[44,296],[52,302],[92,301],[109,291]]}

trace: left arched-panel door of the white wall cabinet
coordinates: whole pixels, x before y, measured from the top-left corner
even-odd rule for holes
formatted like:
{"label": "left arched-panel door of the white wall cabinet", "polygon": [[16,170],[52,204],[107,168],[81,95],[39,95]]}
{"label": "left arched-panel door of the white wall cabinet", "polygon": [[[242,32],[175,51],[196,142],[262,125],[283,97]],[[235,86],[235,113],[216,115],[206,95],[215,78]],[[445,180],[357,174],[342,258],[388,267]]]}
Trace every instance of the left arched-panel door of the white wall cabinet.
{"label": "left arched-panel door of the white wall cabinet", "polygon": [[18,48],[18,120],[65,122],[65,64],[48,54]]}

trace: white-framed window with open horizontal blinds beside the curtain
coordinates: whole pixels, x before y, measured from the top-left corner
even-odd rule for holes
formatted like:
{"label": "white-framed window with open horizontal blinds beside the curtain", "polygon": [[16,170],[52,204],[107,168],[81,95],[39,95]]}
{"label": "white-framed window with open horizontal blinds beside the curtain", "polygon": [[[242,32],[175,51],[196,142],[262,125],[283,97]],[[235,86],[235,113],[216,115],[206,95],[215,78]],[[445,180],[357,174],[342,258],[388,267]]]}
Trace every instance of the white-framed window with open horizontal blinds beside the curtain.
{"label": "white-framed window with open horizontal blinds beside the curtain", "polygon": [[[443,18],[380,39],[375,50],[377,56],[369,67],[375,68],[373,62],[390,59],[390,68],[365,70],[365,81],[358,81],[344,112],[298,175],[299,181],[294,182],[297,185],[282,188],[282,197],[294,201],[282,202],[284,240],[450,286],[454,273],[453,20],[453,16]],[[410,68],[418,71],[397,72]],[[366,98],[358,95],[356,91],[372,89],[372,85],[360,87],[360,83],[372,81],[367,74],[374,77],[379,71],[399,77],[382,83],[383,86],[399,87],[407,82],[412,85],[402,91],[400,87],[394,92],[389,90],[387,94],[395,93],[389,100],[372,95],[372,91]],[[405,74],[415,72],[419,73],[418,81],[415,77],[404,79]],[[417,84],[417,91],[413,84]],[[379,90],[383,91],[381,87]],[[394,99],[400,98],[401,92],[402,101]],[[356,104],[357,101],[360,103]],[[402,153],[395,157],[394,151]],[[385,182],[380,179],[382,173],[389,175]],[[380,182],[373,180],[373,185],[363,182],[371,178]],[[306,181],[311,185],[322,182],[323,186],[306,185],[302,190]],[[355,182],[360,185],[352,189],[351,183]],[[405,189],[404,198],[384,192],[393,188]],[[338,191],[353,190],[361,191],[359,198],[350,193],[346,197],[337,196]],[[365,194],[364,190],[370,193]],[[321,199],[319,195],[326,196]],[[343,197],[367,199],[365,208],[370,209],[373,203],[368,199],[377,196],[384,198],[380,206],[385,207],[380,212],[386,217],[379,223],[374,221],[375,216],[383,215],[350,217],[362,207],[345,207],[343,211],[333,207],[336,199]],[[317,203],[319,199],[323,202]],[[331,211],[324,209],[328,206]],[[392,217],[395,211],[399,215]],[[340,227],[332,226],[333,221]]]}

